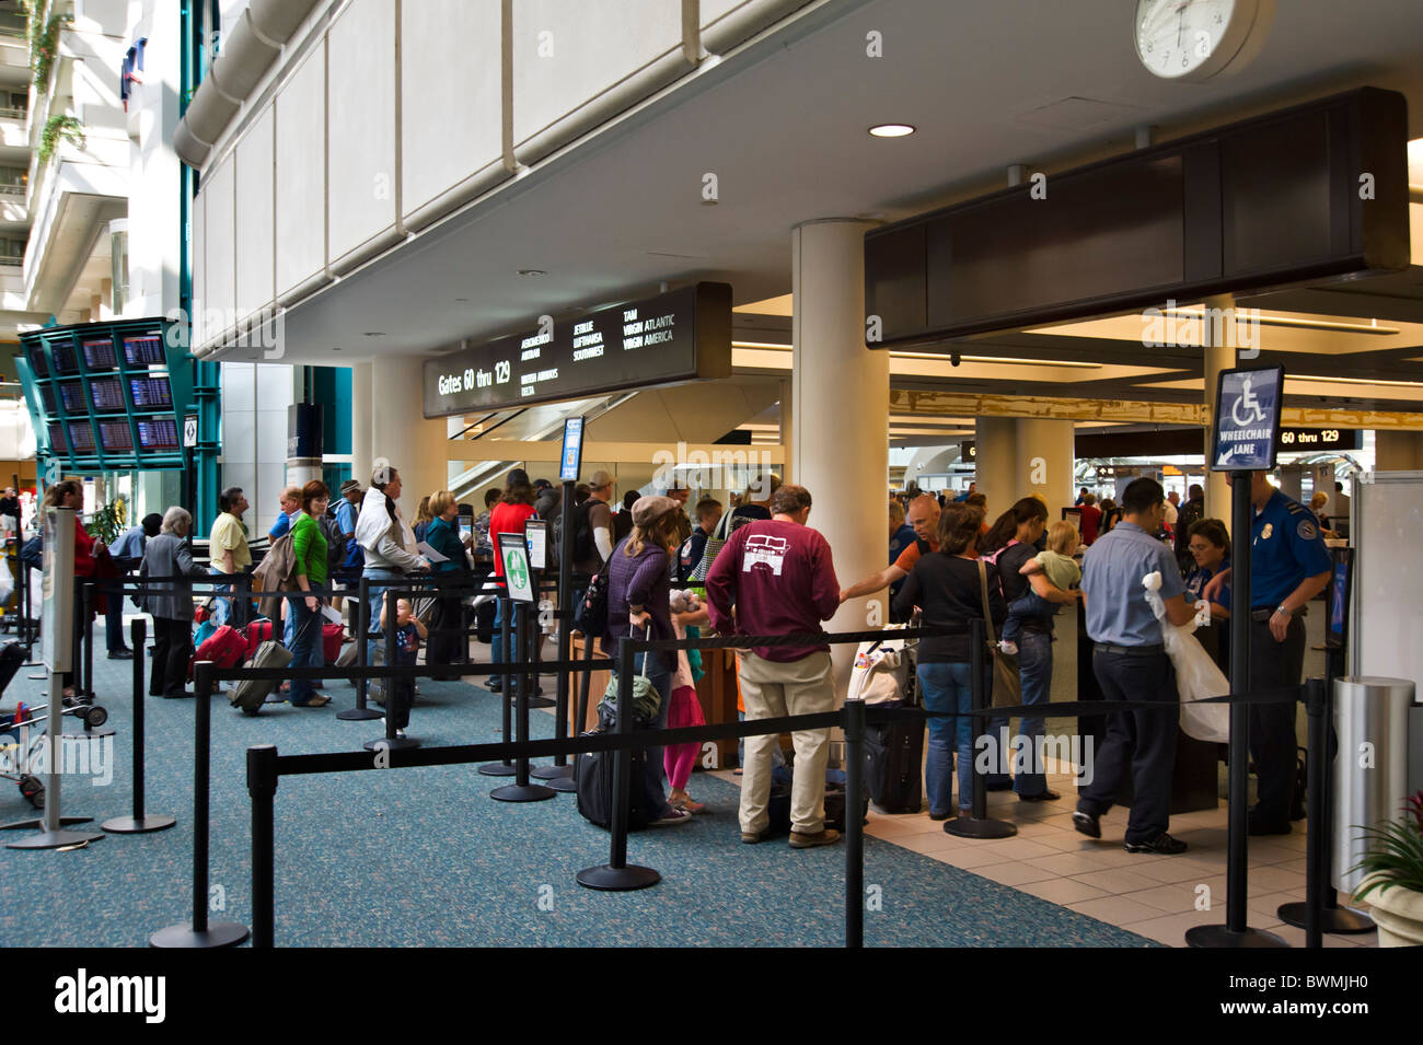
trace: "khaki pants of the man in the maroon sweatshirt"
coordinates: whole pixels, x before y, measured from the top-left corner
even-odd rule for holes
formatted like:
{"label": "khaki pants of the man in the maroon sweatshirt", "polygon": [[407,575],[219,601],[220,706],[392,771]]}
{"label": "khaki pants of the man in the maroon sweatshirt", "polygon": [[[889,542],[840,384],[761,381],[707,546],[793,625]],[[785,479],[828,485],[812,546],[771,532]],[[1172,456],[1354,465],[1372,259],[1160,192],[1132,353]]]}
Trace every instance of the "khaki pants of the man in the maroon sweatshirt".
{"label": "khaki pants of the man in the maroon sweatshirt", "polygon": [[[754,653],[737,654],[741,701],[746,718],[814,715],[835,709],[830,654],[813,653],[801,660],[778,663]],[[791,830],[818,835],[825,827],[825,762],[830,759],[830,729],[797,729],[795,779],[791,785]],[[770,823],[766,805],[771,796],[771,751],[776,734],[746,738],[746,766],[741,771],[741,830],[758,835]]]}

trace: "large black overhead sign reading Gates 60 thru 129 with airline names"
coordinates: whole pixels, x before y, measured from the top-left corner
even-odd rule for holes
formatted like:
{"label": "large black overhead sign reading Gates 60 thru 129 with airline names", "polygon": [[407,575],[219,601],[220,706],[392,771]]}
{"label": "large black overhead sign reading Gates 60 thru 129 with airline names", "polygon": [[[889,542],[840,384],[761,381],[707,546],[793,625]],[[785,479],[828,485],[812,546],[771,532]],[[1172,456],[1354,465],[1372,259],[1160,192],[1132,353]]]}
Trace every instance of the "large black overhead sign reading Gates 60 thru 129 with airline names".
{"label": "large black overhead sign reading Gates 60 thru 129 with airline names", "polygon": [[731,287],[682,290],[561,318],[424,364],[427,418],[731,375]]}

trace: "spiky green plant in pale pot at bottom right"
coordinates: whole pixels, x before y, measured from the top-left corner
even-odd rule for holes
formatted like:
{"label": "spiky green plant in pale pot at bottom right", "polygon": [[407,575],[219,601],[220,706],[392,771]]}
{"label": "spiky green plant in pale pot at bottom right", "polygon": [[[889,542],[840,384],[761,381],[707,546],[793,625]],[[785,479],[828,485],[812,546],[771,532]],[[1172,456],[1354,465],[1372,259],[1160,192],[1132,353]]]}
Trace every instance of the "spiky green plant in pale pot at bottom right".
{"label": "spiky green plant in pale pot at bottom right", "polygon": [[1368,900],[1379,926],[1379,947],[1423,945],[1423,791],[1403,816],[1363,827],[1368,850],[1353,867],[1368,877],[1353,896]]}

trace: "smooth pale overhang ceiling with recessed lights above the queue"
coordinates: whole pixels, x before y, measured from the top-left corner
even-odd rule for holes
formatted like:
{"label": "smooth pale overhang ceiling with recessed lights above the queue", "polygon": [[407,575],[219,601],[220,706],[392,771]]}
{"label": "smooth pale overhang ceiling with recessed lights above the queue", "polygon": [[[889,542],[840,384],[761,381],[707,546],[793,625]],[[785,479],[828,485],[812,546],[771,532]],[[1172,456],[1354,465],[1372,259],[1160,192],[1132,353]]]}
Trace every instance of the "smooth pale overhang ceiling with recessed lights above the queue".
{"label": "smooth pale overhang ceiling with recessed lights above the queue", "polygon": [[[1177,136],[1368,82],[1403,88],[1410,138],[1423,136],[1419,0],[1281,0],[1254,64],[1211,84],[1141,68],[1133,9],[830,4],[297,306],[285,361],[344,365],[377,341],[381,353],[444,351],[660,280],[721,279],[737,303],[784,294],[797,222],[894,220],[998,188],[1010,162],[1062,169],[1127,149],[1141,124]],[[881,58],[865,57],[871,30]],[[865,132],[889,121],[919,131]],[[706,172],[720,183],[716,206],[702,205]]]}

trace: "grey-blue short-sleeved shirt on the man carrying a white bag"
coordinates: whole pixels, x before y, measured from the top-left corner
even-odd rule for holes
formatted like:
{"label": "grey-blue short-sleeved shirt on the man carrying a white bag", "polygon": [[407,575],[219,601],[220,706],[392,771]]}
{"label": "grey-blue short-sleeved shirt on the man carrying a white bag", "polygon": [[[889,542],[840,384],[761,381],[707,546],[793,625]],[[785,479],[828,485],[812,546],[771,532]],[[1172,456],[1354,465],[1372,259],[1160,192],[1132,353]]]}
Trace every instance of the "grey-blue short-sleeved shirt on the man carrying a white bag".
{"label": "grey-blue short-sleeved shirt on the man carrying a white bag", "polygon": [[1161,573],[1161,600],[1185,590],[1170,547],[1144,529],[1120,522],[1097,537],[1081,557],[1081,590],[1087,593],[1087,634],[1111,645],[1157,645],[1161,621],[1151,613],[1141,579]]}

